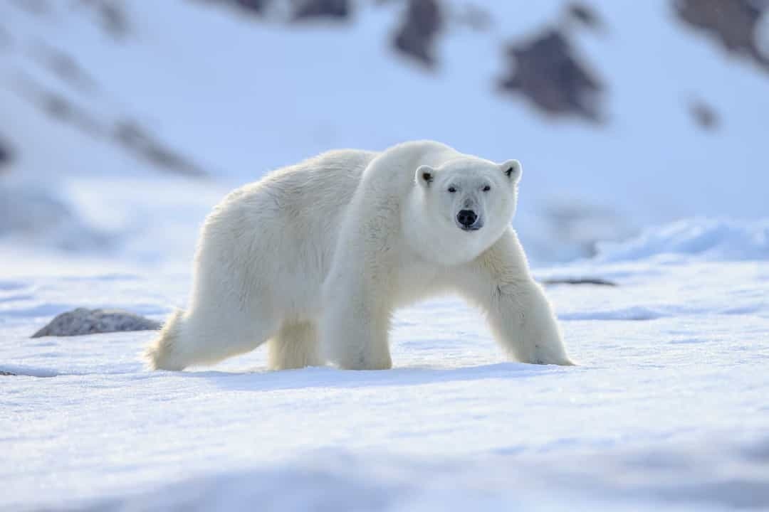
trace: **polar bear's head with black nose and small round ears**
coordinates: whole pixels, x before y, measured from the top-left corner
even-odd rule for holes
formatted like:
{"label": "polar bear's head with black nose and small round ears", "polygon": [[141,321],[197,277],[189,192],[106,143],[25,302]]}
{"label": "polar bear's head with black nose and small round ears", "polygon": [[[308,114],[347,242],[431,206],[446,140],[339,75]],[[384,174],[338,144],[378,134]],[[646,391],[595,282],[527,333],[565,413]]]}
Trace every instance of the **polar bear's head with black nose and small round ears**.
{"label": "polar bear's head with black nose and small round ears", "polygon": [[494,164],[475,157],[453,158],[438,167],[421,165],[415,180],[423,214],[441,236],[480,253],[512,220],[522,171],[518,160]]}

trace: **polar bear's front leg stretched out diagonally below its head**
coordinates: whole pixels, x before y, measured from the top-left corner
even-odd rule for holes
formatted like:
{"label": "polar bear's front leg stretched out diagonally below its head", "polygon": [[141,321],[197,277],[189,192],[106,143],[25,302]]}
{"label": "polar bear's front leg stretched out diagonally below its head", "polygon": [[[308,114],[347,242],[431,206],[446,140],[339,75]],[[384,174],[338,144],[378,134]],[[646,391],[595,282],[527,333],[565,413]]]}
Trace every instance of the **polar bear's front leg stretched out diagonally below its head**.
{"label": "polar bear's front leg stretched out diagonally below its head", "polygon": [[513,230],[458,274],[458,286],[484,310],[494,338],[509,355],[521,362],[574,365]]}

